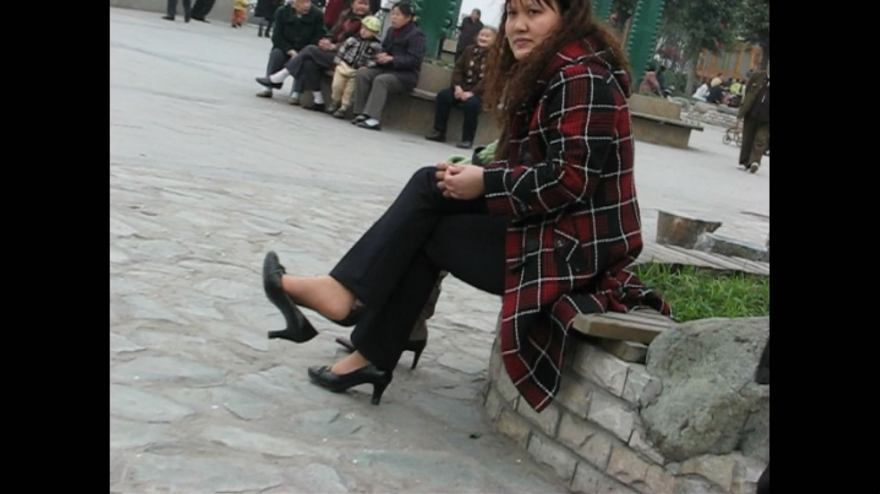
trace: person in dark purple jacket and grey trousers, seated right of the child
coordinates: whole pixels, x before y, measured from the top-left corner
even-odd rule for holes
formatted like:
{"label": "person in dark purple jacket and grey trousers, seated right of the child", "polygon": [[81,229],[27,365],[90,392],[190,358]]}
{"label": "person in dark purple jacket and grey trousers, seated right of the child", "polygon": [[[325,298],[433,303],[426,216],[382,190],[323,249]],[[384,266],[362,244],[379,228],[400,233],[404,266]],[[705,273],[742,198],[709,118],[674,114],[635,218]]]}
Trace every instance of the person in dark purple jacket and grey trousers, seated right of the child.
{"label": "person in dark purple jacket and grey trousers, seated right of the child", "polygon": [[360,70],[355,82],[355,114],[352,123],[362,129],[379,130],[379,120],[389,94],[411,92],[419,82],[427,42],[425,33],[415,25],[413,5],[395,4],[383,53],[377,56],[378,67]]}

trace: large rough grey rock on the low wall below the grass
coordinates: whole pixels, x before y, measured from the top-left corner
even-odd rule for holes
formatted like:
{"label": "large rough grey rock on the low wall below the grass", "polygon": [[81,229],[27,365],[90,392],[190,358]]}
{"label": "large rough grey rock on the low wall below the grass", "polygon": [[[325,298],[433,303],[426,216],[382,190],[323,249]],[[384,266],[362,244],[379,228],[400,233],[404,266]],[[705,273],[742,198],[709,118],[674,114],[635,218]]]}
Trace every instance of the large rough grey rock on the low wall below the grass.
{"label": "large rough grey rock on the low wall below the grass", "polygon": [[768,335],[768,317],[708,319],[651,343],[648,371],[664,385],[642,420],[667,460],[737,449],[767,458],[770,390],[754,382],[754,372]]}

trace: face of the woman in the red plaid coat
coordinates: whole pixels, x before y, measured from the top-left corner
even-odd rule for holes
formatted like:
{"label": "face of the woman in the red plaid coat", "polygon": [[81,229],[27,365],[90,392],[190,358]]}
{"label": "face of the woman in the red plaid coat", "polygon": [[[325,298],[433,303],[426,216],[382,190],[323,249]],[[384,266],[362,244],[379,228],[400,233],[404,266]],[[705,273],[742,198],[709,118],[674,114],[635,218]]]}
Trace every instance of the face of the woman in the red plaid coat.
{"label": "face of the woman in the red plaid coat", "polygon": [[561,21],[558,11],[555,0],[548,0],[546,4],[536,0],[508,2],[504,33],[517,60],[523,60],[554,33]]}

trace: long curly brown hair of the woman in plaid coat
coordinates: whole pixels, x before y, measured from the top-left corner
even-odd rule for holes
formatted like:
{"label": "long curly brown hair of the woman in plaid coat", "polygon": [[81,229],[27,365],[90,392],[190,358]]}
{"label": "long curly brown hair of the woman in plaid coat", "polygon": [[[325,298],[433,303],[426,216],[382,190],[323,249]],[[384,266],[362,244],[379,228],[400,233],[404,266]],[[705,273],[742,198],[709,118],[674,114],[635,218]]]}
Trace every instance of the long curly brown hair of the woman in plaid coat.
{"label": "long curly brown hair of the woman in plaid coat", "polygon": [[569,43],[591,36],[599,45],[594,48],[604,51],[601,55],[603,60],[615,70],[625,70],[627,78],[632,79],[627,54],[620,40],[608,27],[593,18],[591,0],[532,0],[558,12],[561,28],[533,49],[525,60],[517,61],[507,40],[506,25],[509,5],[519,1],[504,2],[501,26],[488,56],[484,101],[495,112],[502,130],[495,159],[507,158],[508,132],[514,114],[519,107],[538,96],[535,81],[545,69],[547,61]]}

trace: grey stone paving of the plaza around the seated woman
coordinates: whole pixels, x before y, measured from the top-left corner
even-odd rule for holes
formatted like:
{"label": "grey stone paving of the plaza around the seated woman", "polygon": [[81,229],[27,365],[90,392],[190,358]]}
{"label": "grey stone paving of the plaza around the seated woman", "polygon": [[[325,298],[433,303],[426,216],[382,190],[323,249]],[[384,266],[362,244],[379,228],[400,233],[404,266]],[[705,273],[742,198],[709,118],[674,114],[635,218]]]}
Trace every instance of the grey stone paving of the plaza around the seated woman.
{"label": "grey stone paving of the plaza around the seated woman", "polygon": [[[312,316],[312,342],[268,341],[263,254],[326,273],[416,167],[457,151],[255,98],[268,49],[252,28],[110,10],[111,490],[566,491],[481,415],[497,298],[447,279],[419,368],[408,353],[378,407],[369,386],[306,378],[345,328]],[[738,171],[721,135],[637,144],[646,240],[672,209],[764,242],[769,160]]]}

